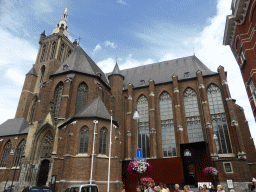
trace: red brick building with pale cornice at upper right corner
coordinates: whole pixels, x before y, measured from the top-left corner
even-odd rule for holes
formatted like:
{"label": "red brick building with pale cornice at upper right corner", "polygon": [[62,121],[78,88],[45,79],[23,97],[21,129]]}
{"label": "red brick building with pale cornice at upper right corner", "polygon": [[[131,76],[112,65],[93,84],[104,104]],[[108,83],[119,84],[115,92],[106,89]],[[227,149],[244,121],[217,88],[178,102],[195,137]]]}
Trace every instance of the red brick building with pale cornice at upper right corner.
{"label": "red brick building with pale cornice at upper right corner", "polygon": [[244,85],[256,118],[256,1],[232,0],[232,14],[227,16],[224,45],[229,45],[240,67]]}

